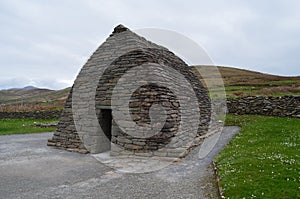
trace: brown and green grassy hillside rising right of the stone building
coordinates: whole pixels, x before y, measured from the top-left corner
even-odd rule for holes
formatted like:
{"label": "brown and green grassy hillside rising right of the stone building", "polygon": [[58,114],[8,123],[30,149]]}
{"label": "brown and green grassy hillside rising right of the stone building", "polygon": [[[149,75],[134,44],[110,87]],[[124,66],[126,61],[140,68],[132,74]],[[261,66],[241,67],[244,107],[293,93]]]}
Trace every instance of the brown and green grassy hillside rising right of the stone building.
{"label": "brown and green grassy hillside rising right of the stone building", "polygon": [[[208,70],[209,67],[194,66],[193,70],[195,71],[195,68]],[[300,96],[300,76],[284,77],[224,66],[218,66],[218,69],[224,81],[227,97]],[[202,79],[201,76],[199,78]],[[215,78],[215,74],[209,74],[207,79],[214,81]]]}

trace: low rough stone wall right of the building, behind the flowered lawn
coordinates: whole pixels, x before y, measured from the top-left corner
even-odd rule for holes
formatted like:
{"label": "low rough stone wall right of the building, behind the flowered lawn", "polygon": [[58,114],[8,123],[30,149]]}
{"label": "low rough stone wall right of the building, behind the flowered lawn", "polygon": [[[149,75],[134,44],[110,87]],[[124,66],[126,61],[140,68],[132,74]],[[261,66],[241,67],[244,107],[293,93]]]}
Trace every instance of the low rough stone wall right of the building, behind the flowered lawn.
{"label": "low rough stone wall right of the building, behind the flowered lawn", "polygon": [[229,113],[300,118],[300,96],[228,99]]}

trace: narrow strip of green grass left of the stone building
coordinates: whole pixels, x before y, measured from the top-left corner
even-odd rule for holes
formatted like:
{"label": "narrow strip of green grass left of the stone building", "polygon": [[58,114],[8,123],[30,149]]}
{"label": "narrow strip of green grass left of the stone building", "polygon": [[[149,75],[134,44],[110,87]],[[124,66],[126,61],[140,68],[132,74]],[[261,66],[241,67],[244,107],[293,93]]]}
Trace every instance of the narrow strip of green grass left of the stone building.
{"label": "narrow strip of green grass left of the stone building", "polygon": [[36,120],[36,119],[5,119],[0,120],[0,135],[26,134],[53,132],[55,128],[39,128],[34,126],[34,122],[47,123],[57,120]]}

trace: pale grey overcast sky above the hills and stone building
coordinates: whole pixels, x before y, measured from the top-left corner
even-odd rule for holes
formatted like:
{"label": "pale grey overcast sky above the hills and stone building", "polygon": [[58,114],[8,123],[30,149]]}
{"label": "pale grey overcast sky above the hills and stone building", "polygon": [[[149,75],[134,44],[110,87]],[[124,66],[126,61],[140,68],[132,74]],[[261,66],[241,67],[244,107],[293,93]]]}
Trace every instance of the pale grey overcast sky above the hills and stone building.
{"label": "pale grey overcast sky above the hills and stone building", "polygon": [[216,65],[300,75],[298,0],[0,0],[0,89],[72,85],[120,23],[181,33]]}

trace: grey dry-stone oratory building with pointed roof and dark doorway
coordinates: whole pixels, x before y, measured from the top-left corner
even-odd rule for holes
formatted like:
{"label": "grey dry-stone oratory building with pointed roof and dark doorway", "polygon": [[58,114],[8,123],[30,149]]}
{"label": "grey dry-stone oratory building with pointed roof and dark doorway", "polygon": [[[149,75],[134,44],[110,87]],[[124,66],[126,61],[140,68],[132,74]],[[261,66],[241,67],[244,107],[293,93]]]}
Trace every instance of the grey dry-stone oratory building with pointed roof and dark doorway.
{"label": "grey dry-stone oratory building with pointed roof and dark doorway", "polygon": [[203,142],[210,118],[208,91],[191,67],[118,25],[79,72],[48,145],[184,157]]}

